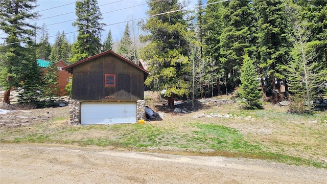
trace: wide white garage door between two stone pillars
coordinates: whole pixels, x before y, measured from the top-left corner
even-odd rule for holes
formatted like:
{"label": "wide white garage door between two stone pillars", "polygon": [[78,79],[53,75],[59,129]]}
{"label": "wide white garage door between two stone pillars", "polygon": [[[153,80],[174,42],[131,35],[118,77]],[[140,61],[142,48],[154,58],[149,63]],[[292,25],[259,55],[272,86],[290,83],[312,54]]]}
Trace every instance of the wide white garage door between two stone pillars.
{"label": "wide white garage door between two stone pillars", "polygon": [[81,103],[81,125],[136,123],[136,103]]}

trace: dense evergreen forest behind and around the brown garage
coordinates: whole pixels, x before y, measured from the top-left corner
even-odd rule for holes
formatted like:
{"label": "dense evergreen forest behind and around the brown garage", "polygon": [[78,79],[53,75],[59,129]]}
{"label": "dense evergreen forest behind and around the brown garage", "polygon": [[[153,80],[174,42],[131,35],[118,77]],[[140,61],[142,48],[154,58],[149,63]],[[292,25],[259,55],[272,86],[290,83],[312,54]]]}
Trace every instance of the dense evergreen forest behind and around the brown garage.
{"label": "dense evergreen forest behind and around the brown garage", "polygon": [[[188,8],[187,1],[149,0],[147,17],[127,21],[116,43],[111,30],[104,33],[106,24],[96,0],[76,1],[76,39],[70,42],[58,30],[54,43],[46,25],[29,23],[39,18],[33,11],[36,0],[0,2],[0,29],[5,33],[0,86],[5,103],[17,88],[22,102],[51,99],[55,62],[72,64],[106,50],[136,64],[144,60],[151,73],[146,84],[164,90],[169,106],[174,96],[213,97],[242,87],[249,82],[241,77],[245,59],[253,65],[255,73],[248,74],[260,83],[263,100],[283,100],[282,86],[294,100],[311,102],[327,93],[326,1],[199,0],[195,8]],[[107,35],[105,40],[102,34]],[[46,76],[38,69],[37,58],[51,61]]]}

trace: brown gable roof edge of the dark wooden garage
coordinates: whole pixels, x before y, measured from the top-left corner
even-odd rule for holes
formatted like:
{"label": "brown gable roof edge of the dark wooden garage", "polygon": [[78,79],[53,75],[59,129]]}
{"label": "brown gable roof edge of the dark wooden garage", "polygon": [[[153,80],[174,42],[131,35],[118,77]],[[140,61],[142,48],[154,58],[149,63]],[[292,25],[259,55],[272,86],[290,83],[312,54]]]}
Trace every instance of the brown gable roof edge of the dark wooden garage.
{"label": "brown gable roof edge of the dark wooden garage", "polygon": [[84,63],[84,62],[90,61],[90,60],[92,60],[92,59],[95,59],[95,58],[97,58],[97,57],[104,56],[104,55],[107,55],[107,54],[112,54],[112,55],[114,55],[114,56],[116,56],[116,57],[122,59],[123,61],[127,62],[128,64],[131,64],[132,66],[138,68],[139,70],[142,70],[142,71],[144,72],[144,74],[149,75],[149,72],[148,72],[147,70],[145,70],[144,68],[142,68],[142,67],[140,67],[140,66],[134,64],[133,62],[131,62],[131,61],[129,61],[129,60],[123,58],[122,56],[120,56],[120,55],[118,55],[118,54],[116,54],[116,53],[114,53],[114,52],[112,52],[112,51],[110,51],[110,50],[105,51],[105,52],[102,52],[102,53],[97,54],[97,55],[94,55],[94,56],[91,56],[91,57],[89,57],[89,58],[86,58],[86,59],[80,60],[80,61],[78,61],[78,62],[76,62],[76,63],[74,63],[74,64],[71,64],[71,65],[65,66],[65,67],[62,68],[62,70],[66,70],[67,72],[72,73],[72,72],[73,72],[73,67],[74,67],[74,66],[77,66],[77,65],[82,64],[82,63]]}

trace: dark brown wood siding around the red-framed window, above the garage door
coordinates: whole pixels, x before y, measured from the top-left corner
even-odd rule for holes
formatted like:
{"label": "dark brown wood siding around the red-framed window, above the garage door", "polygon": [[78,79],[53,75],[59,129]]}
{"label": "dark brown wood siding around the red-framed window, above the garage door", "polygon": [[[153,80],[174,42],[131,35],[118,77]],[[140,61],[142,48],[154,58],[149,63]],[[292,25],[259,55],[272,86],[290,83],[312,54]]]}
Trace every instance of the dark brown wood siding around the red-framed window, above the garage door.
{"label": "dark brown wood siding around the red-framed window, above the garage door", "polygon": [[[115,75],[115,86],[104,86],[105,74]],[[113,55],[104,55],[73,68],[72,98],[84,101],[143,99],[143,71]]]}

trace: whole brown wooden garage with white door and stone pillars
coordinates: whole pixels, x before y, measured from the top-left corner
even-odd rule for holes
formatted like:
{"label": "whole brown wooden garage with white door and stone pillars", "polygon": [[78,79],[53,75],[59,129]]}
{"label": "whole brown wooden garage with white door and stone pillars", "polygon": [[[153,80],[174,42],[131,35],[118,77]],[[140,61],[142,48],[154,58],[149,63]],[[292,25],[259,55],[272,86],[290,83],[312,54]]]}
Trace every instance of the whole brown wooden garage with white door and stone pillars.
{"label": "whole brown wooden garage with white door and stone pillars", "polygon": [[144,67],[112,52],[63,67],[73,75],[69,123],[73,125],[136,123],[145,120]]}

